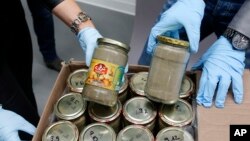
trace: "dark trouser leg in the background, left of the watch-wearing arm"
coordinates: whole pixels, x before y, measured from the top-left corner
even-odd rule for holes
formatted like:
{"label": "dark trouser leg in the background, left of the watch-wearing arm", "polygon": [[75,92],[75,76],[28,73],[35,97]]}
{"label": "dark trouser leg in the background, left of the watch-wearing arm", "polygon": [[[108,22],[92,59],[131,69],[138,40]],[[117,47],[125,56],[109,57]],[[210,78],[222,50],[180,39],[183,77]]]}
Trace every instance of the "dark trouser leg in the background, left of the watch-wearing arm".
{"label": "dark trouser leg in the background, left of the watch-wearing arm", "polygon": [[53,15],[40,0],[27,0],[27,4],[32,14],[39,50],[43,59],[51,62],[58,58],[54,38]]}

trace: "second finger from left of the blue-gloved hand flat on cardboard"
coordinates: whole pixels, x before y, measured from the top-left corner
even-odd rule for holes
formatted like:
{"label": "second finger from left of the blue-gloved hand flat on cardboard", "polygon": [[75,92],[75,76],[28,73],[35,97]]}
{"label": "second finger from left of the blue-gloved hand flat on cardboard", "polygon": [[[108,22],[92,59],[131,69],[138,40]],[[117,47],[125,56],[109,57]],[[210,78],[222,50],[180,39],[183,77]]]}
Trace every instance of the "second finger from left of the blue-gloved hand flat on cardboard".
{"label": "second finger from left of the blue-gloved hand flat on cardboard", "polygon": [[226,72],[224,72],[223,76],[221,76],[220,78],[215,98],[215,106],[217,108],[224,107],[230,83],[231,83],[230,76]]}

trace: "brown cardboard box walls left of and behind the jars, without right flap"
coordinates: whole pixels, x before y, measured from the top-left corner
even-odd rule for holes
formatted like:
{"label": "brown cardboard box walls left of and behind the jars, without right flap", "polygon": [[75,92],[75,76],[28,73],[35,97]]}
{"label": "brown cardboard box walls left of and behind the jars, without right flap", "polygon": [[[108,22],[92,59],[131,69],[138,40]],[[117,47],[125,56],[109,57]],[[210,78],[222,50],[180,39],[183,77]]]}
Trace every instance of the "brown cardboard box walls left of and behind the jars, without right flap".
{"label": "brown cardboard box walls left of and behind the jars, without right flap", "polygon": [[[65,94],[67,91],[67,79],[71,72],[81,68],[87,68],[84,62],[70,60],[68,63],[62,63],[63,67],[57,76],[55,84],[52,88],[48,101],[44,107],[43,113],[41,115],[40,121],[37,126],[35,135],[32,141],[41,141],[42,135],[45,129],[54,122],[55,115],[53,114],[54,104],[57,100]],[[148,71],[148,67],[139,65],[130,65],[128,75],[134,74],[140,71]]]}

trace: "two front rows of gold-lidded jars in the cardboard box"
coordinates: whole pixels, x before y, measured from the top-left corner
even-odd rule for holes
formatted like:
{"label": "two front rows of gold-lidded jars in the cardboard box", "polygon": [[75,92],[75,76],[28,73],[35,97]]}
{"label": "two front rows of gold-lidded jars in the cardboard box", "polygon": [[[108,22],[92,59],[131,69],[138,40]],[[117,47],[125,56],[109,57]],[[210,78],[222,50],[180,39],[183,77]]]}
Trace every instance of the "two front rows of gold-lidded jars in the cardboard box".
{"label": "two front rows of gold-lidded jars in the cardboard box", "polygon": [[156,135],[158,141],[166,138],[193,141],[185,128],[191,126],[194,112],[183,99],[174,105],[157,105],[146,97],[137,96],[124,105],[118,100],[116,106],[109,107],[86,102],[79,93],[68,93],[57,101],[54,113],[56,122],[46,129],[43,140],[115,141],[117,137],[121,141],[132,138],[153,141]]}

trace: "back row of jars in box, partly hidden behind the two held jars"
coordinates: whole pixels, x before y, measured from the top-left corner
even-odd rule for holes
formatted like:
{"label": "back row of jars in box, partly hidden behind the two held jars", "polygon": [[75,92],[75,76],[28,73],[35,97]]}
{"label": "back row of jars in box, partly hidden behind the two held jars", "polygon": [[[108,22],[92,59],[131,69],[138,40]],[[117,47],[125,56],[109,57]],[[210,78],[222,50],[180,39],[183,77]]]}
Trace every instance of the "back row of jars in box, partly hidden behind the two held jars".
{"label": "back row of jars in box, partly hidden behind the two held jars", "polygon": [[[81,93],[85,79],[87,78],[87,69],[79,69],[72,72],[67,80],[68,92]],[[118,98],[122,104],[133,96],[145,96],[144,88],[146,86],[148,72],[134,73],[132,77],[125,76],[124,82],[118,93]],[[190,100],[194,91],[194,83],[189,76],[185,75],[180,89],[180,98]]]}

